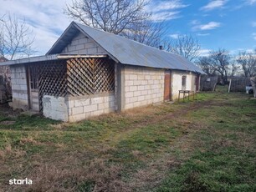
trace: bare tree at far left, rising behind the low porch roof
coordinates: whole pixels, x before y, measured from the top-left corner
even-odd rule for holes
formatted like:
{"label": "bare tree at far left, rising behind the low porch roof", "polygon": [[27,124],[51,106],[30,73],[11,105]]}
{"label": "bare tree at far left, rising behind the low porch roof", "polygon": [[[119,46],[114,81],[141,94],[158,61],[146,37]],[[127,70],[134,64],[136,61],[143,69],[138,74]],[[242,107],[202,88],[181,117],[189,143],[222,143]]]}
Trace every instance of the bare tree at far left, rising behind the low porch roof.
{"label": "bare tree at far left, rising behind the low porch roof", "polygon": [[9,60],[28,57],[34,52],[32,33],[24,19],[4,15],[0,20],[0,56]]}

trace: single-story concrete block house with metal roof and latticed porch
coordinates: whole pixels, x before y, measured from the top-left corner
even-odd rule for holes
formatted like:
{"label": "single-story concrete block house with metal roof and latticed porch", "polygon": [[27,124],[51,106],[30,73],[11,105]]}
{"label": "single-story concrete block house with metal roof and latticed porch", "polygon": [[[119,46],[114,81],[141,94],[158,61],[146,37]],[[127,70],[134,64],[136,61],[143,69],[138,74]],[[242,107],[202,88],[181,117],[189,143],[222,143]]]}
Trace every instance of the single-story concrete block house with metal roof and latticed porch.
{"label": "single-story concrete block house with metal roof and latticed porch", "polygon": [[13,109],[67,122],[177,99],[199,90],[202,73],[182,56],[74,22],[46,55],[1,64],[11,68]]}

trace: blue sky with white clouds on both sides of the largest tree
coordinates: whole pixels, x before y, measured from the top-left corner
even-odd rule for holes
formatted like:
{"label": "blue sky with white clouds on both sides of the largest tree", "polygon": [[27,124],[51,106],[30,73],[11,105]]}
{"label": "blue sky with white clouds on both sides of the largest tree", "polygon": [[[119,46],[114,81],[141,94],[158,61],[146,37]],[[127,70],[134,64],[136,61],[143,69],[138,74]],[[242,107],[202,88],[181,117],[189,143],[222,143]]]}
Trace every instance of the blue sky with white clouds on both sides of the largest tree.
{"label": "blue sky with white clouds on both sides of the largest tree", "polygon": [[[63,8],[72,0],[0,0],[0,16],[15,13],[25,18],[35,35],[38,55],[45,54],[71,20]],[[168,38],[192,34],[202,55],[211,49],[230,53],[256,48],[256,0],[154,0],[147,6],[152,21],[165,20]]]}

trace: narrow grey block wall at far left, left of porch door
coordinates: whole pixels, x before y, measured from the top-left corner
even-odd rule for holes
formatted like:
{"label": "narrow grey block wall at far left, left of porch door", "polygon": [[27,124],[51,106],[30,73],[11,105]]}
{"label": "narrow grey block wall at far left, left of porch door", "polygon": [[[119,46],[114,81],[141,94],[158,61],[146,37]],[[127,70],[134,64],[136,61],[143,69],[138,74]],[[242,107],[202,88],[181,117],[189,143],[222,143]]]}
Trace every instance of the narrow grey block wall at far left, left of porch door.
{"label": "narrow grey block wall at far left, left of porch door", "polygon": [[28,85],[23,65],[11,66],[13,109],[28,109]]}

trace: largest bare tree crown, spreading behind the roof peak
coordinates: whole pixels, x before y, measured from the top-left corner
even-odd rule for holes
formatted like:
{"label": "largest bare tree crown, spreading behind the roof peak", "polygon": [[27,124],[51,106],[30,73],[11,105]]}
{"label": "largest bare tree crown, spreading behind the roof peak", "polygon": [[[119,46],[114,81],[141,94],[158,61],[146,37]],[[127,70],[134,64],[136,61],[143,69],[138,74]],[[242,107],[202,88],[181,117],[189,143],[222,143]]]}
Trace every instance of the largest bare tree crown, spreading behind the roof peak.
{"label": "largest bare tree crown, spreading behind the roof peak", "polygon": [[64,13],[85,25],[120,34],[150,18],[146,0],[74,0]]}

